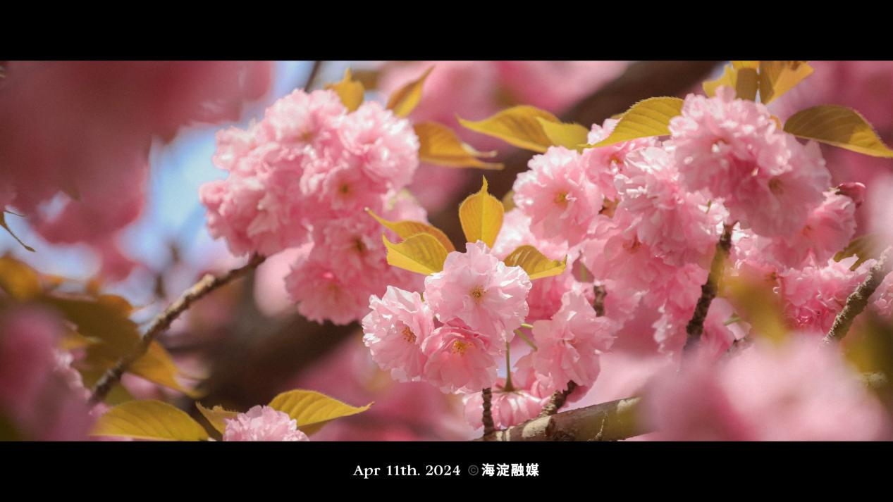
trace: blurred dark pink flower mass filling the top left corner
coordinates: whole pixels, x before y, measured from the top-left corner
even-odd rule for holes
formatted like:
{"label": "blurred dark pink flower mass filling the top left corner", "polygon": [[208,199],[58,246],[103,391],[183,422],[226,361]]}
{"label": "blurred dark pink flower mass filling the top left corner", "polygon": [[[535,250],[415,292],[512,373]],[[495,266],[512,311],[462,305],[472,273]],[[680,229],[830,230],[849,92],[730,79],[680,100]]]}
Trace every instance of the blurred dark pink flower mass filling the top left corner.
{"label": "blurred dark pink flower mass filling the top left corner", "polygon": [[[238,119],[270,73],[269,62],[8,62],[0,209],[27,215],[50,243],[90,244],[102,275],[122,279],[136,264],[118,235],[146,203],[153,139]],[[45,210],[57,196],[58,210]]]}

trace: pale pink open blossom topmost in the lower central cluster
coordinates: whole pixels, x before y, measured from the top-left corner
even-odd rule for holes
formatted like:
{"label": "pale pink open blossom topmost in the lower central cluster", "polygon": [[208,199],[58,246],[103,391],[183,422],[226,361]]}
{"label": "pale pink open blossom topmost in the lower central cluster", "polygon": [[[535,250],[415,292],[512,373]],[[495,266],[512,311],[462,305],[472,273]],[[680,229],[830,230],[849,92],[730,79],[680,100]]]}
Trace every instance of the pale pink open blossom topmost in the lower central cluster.
{"label": "pale pink open blossom topmost in the lower central cluster", "polygon": [[503,343],[527,317],[530,286],[522,267],[506,267],[478,241],[466,244],[465,252],[449,253],[443,271],[425,278],[425,300],[440,322],[461,319]]}

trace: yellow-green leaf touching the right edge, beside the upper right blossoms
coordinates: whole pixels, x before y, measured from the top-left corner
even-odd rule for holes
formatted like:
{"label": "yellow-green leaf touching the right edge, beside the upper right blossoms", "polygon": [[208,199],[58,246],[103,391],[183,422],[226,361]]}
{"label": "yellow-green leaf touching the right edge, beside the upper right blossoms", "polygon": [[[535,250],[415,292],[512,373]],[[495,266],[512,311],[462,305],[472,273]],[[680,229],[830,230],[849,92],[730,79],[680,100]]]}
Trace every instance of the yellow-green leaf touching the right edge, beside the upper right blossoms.
{"label": "yellow-green leaf touching the right edge, beside the upper right blossoms", "polygon": [[872,157],[893,158],[893,150],[880,141],[872,125],[858,111],[846,106],[822,104],[797,111],[785,122],[784,130]]}

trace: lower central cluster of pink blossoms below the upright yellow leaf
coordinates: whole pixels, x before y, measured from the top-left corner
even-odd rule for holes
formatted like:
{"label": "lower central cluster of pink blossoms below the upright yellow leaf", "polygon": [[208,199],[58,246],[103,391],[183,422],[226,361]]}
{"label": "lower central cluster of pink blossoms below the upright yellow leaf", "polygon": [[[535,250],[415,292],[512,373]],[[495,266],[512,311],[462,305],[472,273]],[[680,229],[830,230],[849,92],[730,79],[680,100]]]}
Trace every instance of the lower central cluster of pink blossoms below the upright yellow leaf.
{"label": "lower central cluster of pink blossoms below the upright yellow leaf", "polygon": [[[613,323],[597,317],[586,288],[568,287],[569,272],[531,283],[522,267],[505,265],[497,250],[522,228],[506,228],[494,250],[478,241],[449,253],[443,270],[425,279],[423,294],[388,286],[363,318],[363,342],[395,380],[466,394],[470,408],[480,404],[482,389],[493,388],[494,419],[504,426],[536,416],[570,381],[591,385],[598,355],[613,341]],[[509,385],[497,378],[498,366],[515,331],[533,319],[539,349],[516,361]]]}

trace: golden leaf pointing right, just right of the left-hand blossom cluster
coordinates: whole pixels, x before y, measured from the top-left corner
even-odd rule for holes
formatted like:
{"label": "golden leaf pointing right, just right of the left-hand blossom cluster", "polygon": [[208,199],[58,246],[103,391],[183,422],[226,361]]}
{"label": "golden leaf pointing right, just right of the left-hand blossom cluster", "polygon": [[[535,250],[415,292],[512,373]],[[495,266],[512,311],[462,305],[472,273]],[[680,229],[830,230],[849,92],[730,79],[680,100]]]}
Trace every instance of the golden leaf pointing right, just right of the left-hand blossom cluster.
{"label": "golden leaf pointing right, just right of the left-hand blossom cluster", "polygon": [[497,162],[480,158],[496,156],[497,152],[478,152],[465,144],[451,128],[437,122],[421,122],[413,126],[419,136],[419,160],[449,168],[503,169]]}

